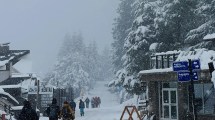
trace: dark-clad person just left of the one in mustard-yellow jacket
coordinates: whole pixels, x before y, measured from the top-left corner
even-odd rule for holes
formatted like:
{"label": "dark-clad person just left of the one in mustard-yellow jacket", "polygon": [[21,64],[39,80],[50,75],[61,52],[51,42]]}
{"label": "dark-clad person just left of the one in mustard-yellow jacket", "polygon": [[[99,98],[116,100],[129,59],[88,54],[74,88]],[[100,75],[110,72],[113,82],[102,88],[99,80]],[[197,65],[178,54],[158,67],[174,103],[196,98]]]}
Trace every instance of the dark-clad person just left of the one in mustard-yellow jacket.
{"label": "dark-clad person just left of the one in mustard-yellow jacket", "polygon": [[57,105],[57,99],[52,99],[52,104],[46,109],[49,120],[58,120],[60,116],[60,107]]}

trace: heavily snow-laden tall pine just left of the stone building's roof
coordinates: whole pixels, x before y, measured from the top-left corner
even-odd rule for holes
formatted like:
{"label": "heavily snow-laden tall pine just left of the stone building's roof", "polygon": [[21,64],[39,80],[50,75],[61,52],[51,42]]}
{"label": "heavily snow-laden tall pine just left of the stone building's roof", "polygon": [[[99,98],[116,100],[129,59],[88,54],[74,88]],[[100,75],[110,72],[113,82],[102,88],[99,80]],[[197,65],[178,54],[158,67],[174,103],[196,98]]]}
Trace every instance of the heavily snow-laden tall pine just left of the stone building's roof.
{"label": "heavily snow-laden tall pine just left of the stone building's roof", "polygon": [[156,1],[137,0],[136,19],[124,44],[126,54],[124,55],[123,85],[131,93],[140,93],[137,75],[139,71],[149,69],[149,46],[155,41],[155,8],[157,8]]}

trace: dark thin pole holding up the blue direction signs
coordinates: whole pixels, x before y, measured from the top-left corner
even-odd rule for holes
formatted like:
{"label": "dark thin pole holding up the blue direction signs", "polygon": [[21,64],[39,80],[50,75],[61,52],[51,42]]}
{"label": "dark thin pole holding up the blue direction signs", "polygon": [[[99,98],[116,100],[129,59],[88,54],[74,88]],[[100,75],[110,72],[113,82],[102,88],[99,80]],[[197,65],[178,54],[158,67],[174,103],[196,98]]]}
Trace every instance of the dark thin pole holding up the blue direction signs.
{"label": "dark thin pole holding up the blue direction signs", "polygon": [[196,109],[195,109],[195,93],[194,93],[194,82],[193,82],[193,69],[192,61],[188,59],[189,71],[190,71],[190,85],[189,85],[189,111],[192,114],[192,120],[197,120]]}

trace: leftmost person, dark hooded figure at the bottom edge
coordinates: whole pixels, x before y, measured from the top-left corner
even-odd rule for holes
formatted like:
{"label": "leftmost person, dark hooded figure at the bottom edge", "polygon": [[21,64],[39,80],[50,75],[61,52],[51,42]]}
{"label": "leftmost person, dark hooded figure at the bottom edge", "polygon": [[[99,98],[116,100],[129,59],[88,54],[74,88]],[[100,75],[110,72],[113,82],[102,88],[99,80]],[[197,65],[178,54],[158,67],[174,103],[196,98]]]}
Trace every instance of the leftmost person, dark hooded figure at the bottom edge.
{"label": "leftmost person, dark hooded figure at the bottom edge", "polygon": [[36,111],[31,107],[29,101],[24,101],[24,106],[19,114],[18,120],[39,120]]}

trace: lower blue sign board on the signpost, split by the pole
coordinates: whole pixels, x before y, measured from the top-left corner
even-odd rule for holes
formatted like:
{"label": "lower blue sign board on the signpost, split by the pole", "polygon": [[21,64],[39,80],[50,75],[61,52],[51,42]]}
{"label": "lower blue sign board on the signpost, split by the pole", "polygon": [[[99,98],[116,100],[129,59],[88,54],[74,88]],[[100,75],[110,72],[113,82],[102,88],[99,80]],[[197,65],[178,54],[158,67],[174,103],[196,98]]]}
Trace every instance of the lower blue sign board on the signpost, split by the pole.
{"label": "lower blue sign board on the signpost, split by the pole", "polygon": [[[193,80],[198,80],[197,72],[193,72]],[[178,81],[179,82],[188,82],[190,81],[190,72],[178,72]]]}

